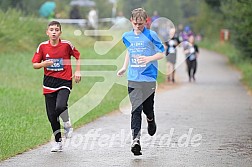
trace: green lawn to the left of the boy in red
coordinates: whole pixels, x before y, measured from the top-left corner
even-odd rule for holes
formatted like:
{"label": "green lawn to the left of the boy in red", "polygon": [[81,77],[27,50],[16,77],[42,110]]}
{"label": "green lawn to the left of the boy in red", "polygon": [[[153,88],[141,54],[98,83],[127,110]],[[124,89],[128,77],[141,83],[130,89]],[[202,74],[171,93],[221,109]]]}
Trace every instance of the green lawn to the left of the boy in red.
{"label": "green lawn to the left of the boy in red", "polygon": [[45,142],[50,135],[38,86],[42,71],[35,73],[30,59],[23,54],[0,56],[1,160]]}

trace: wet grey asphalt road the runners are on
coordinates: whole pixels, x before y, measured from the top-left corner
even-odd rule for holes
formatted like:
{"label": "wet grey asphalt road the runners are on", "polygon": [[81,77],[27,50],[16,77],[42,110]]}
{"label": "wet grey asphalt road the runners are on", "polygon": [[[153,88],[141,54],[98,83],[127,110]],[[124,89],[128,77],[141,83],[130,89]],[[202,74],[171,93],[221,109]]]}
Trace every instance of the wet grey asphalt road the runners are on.
{"label": "wet grey asphalt road the runners are on", "polygon": [[251,167],[252,97],[241,84],[241,75],[214,52],[201,49],[198,63],[195,83],[188,82],[181,64],[176,86],[160,86],[153,137],[147,135],[143,116],[142,156],[130,152],[126,110],[75,130],[63,152],[51,153],[48,143],[5,160],[0,167]]}

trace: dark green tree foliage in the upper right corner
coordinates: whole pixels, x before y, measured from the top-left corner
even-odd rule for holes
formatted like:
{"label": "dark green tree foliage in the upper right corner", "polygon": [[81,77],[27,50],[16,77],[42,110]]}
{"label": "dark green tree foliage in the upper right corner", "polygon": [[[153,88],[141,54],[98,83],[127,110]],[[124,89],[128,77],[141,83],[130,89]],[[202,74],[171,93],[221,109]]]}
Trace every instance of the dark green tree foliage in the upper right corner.
{"label": "dark green tree foliage in the upper right corner", "polygon": [[252,59],[252,1],[251,0],[205,0],[210,10],[215,13],[211,18],[218,22],[219,28],[231,32],[231,42]]}

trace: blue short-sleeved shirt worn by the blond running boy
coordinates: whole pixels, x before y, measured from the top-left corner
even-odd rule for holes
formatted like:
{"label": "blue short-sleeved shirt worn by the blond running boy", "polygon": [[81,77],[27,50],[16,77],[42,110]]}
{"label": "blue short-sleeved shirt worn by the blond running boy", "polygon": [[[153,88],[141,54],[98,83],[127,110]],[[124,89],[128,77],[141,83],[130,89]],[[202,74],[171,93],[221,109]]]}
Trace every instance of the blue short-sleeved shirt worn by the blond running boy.
{"label": "blue short-sleeved shirt worn by the blond running boy", "polygon": [[152,56],[164,52],[164,46],[155,31],[144,28],[141,34],[134,31],[123,34],[123,43],[129,52],[128,80],[136,82],[154,82],[157,79],[157,60],[146,65],[138,64],[138,56]]}

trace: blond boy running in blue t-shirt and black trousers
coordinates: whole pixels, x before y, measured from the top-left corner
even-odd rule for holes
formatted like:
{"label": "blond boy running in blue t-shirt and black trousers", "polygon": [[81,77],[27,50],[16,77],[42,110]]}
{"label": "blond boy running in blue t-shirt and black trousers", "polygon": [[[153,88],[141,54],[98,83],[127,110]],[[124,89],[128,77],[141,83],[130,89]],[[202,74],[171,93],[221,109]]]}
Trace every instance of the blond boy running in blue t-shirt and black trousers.
{"label": "blond boy running in blue t-shirt and black trousers", "polygon": [[142,111],[147,117],[148,133],[156,133],[154,115],[154,95],[158,73],[157,60],[164,55],[164,46],[156,32],[145,28],[147,13],[142,8],[134,9],[130,21],[133,30],[123,34],[123,43],[127,53],[123,67],[117,72],[123,76],[128,68],[128,93],[132,105],[131,129],[133,143],[131,151],[134,155],[142,155],[140,133]]}

